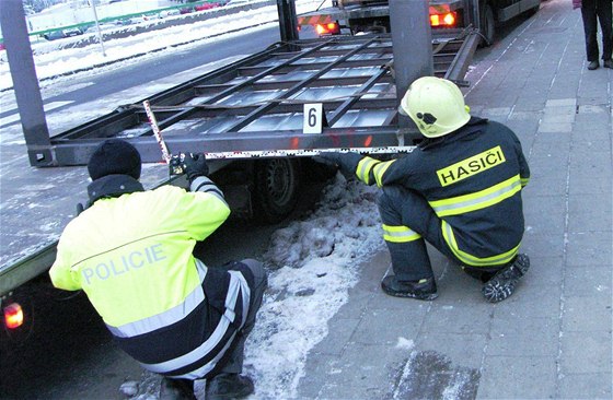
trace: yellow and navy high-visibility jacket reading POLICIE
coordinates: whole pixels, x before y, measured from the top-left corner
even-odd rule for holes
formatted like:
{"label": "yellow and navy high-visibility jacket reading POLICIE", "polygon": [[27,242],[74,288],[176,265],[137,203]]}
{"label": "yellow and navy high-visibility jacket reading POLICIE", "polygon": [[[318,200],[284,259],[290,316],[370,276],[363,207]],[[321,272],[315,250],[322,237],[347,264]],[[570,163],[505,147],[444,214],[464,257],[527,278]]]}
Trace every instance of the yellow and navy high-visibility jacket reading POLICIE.
{"label": "yellow and navy high-visibility jacket reading POLICIE", "polygon": [[[59,289],[83,290],[119,345],[143,367],[201,377],[248,310],[245,277],[212,271],[192,254],[230,209],[206,177],[193,183],[193,192],[163,186],[117,196],[114,189],[134,187],[130,180],[111,175],[92,183],[94,202],[63,231],[51,281]],[[113,196],[104,197],[105,191]],[[215,281],[212,294],[206,293],[206,280]],[[194,353],[207,342],[205,352]]]}

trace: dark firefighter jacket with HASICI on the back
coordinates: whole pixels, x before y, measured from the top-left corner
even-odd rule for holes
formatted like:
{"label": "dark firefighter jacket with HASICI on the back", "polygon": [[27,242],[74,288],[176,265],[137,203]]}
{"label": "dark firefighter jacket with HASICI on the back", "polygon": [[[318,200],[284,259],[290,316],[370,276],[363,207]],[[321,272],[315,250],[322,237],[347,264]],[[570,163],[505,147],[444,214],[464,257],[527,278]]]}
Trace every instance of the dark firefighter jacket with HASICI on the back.
{"label": "dark firefighter jacket with HASICI on the back", "polygon": [[402,158],[363,157],[356,175],[367,185],[401,185],[420,193],[464,264],[504,264],[518,252],[524,230],[521,189],[530,169],[519,139],[499,122],[473,117]]}

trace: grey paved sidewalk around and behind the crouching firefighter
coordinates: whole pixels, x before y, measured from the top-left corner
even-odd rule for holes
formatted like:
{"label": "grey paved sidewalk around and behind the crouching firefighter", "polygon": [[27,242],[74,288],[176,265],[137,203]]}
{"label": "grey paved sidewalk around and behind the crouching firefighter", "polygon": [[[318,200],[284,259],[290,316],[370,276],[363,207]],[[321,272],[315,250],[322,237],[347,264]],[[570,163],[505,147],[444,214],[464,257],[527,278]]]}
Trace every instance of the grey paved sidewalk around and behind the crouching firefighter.
{"label": "grey paved sidewalk around and behind the crouching firefighter", "polygon": [[479,50],[472,113],[507,123],[532,178],[522,252],[532,267],[510,298],[430,249],[439,298],[386,296],[382,251],[311,352],[304,399],[611,399],[613,70],[587,70],[582,23],[550,0]]}

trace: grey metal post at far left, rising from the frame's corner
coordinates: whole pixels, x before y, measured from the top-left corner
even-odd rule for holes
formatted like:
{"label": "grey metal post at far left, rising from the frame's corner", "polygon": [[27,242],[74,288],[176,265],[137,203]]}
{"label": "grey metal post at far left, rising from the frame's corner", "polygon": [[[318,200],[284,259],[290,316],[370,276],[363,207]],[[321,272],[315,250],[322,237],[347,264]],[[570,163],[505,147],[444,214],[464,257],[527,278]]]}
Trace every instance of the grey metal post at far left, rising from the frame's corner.
{"label": "grey metal post at far left, rising from the frame's corner", "polygon": [[22,1],[2,1],[0,25],[7,46],[7,58],[13,79],[30,164],[33,166],[51,165],[54,157],[49,129],[45,119],[43,97],[36,77]]}

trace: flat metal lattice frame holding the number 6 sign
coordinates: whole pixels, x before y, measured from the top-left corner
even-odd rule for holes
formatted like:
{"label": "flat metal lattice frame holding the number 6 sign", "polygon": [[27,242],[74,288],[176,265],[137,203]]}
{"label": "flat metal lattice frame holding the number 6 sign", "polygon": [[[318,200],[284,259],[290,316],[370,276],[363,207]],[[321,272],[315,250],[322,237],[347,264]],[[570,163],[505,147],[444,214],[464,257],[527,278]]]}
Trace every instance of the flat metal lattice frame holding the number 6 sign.
{"label": "flat metal lattice frame holding the number 6 sign", "polygon": [[[461,82],[477,42],[461,31],[454,39],[435,38],[435,75]],[[174,153],[248,158],[327,149],[395,152],[417,131],[397,125],[393,69],[390,34],[281,42],[147,101]],[[143,162],[159,162],[142,101],[50,138],[47,149],[28,148],[31,164],[84,165],[107,138],[126,139]],[[311,103],[323,104],[327,126],[321,134],[303,133],[303,107]]]}

